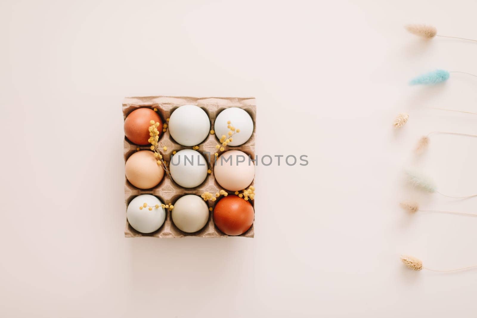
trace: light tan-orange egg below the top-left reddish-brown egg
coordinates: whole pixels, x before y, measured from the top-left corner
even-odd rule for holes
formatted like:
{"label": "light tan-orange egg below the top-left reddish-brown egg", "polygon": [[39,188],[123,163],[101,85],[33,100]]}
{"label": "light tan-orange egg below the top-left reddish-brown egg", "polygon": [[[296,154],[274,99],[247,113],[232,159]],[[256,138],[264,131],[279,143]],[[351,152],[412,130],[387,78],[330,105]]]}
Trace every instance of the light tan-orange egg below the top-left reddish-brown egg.
{"label": "light tan-orange egg below the top-left reddish-brown egg", "polygon": [[157,164],[152,151],[141,150],[132,154],[124,167],[127,180],[139,189],[150,189],[161,182],[164,169]]}

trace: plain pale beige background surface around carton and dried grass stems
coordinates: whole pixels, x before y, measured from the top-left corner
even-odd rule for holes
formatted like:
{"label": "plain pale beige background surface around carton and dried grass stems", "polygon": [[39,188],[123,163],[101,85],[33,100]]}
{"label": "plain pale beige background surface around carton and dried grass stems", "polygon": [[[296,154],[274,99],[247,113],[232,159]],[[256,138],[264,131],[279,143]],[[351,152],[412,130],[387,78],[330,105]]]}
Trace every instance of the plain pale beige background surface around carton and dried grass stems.
{"label": "plain pale beige background surface around carton and dried grass stems", "polygon": [[[407,34],[408,22],[477,38],[475,1],[14,1],[0,4],[2,317],[472,317],[477,219],[397,206],[421,166],[477,193],[477,45]],[[126,239],[124,96],[255,96],[255,238]],[[410,108],[413,110],[409,111]],[[394,133],[396,113],[409,123]],[[268,137],[267,137],[268,136]],[[422,195],[427,208],[476,200]]]}

